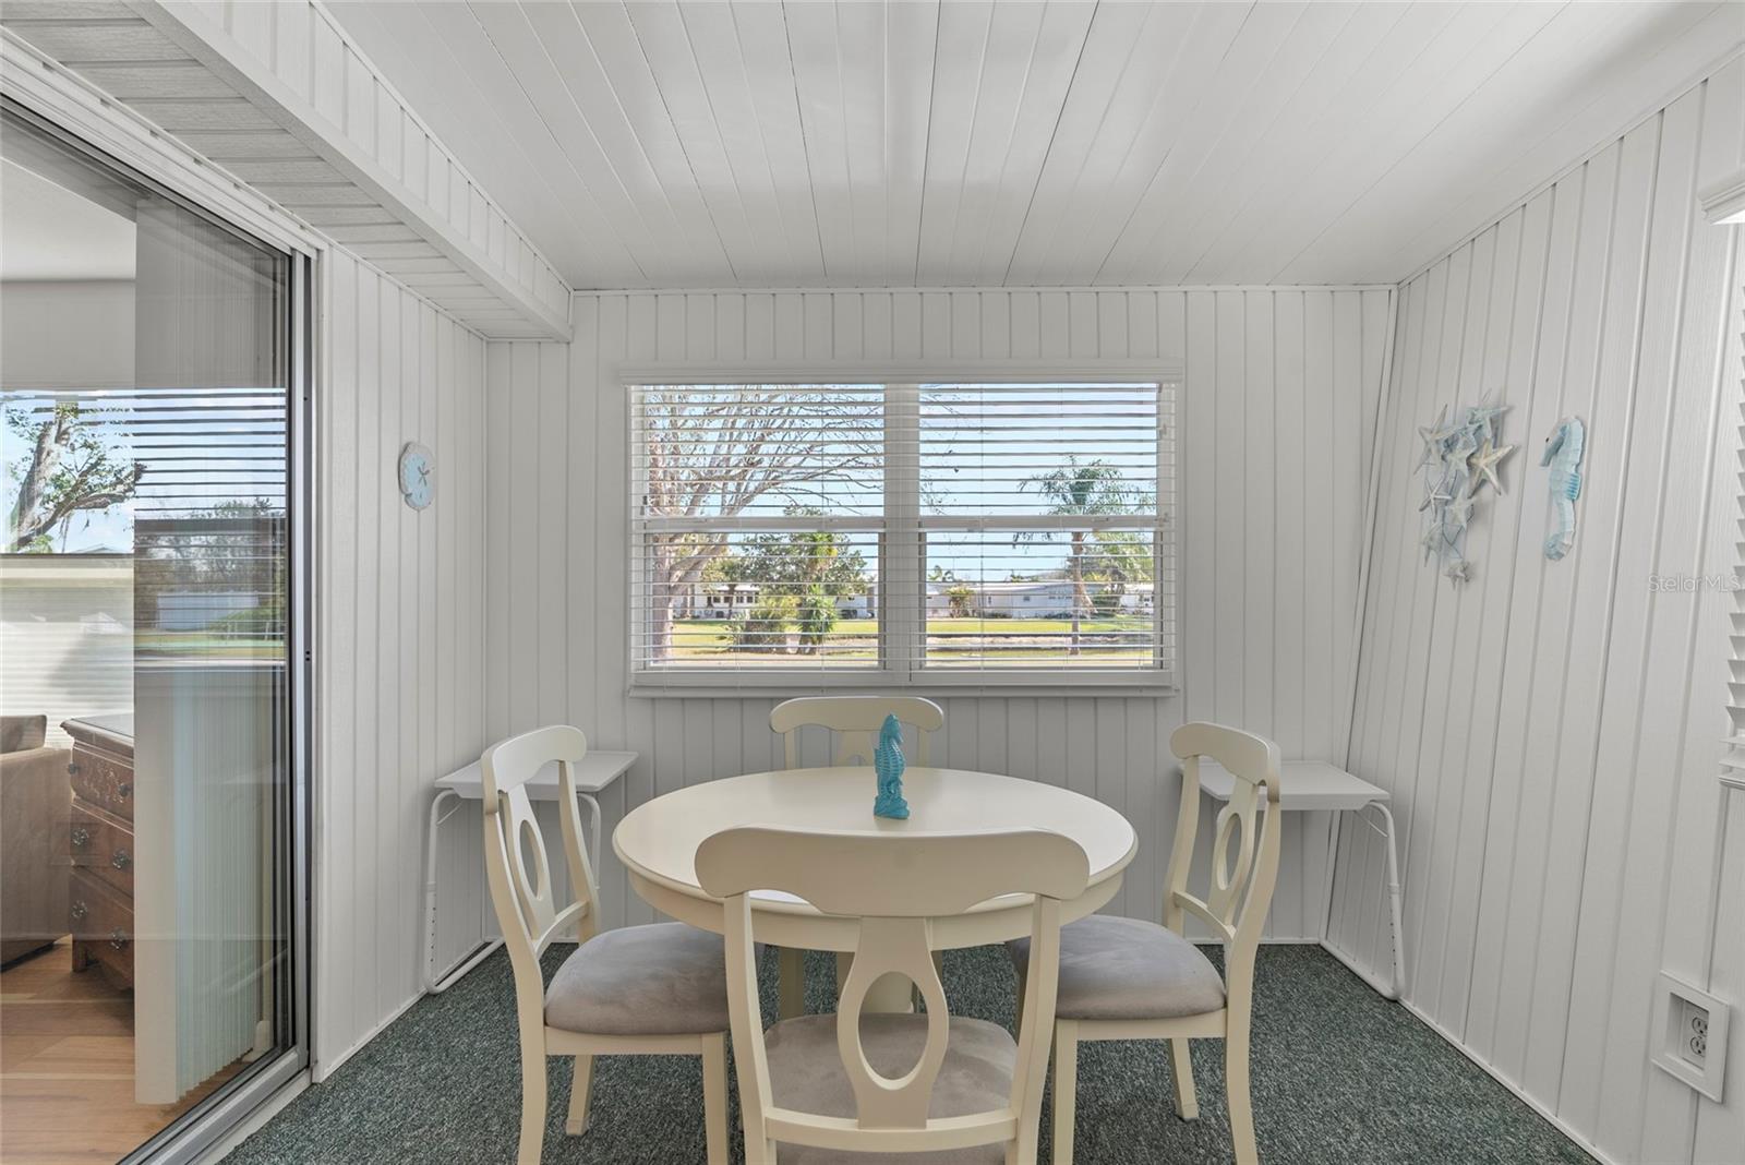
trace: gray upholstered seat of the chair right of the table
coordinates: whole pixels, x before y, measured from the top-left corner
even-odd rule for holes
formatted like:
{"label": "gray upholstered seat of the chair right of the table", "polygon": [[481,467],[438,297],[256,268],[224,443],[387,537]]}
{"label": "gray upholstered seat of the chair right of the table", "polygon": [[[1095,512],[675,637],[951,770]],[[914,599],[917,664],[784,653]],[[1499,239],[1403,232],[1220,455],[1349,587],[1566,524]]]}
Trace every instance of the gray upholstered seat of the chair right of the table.
{"label": "gray upholstered seat of the chair right of the table", "polygon": [[[1030,940],[1005,945],[1024,970]],[[1091,917],[1061,928],[1059,1019],[1176,1019],[1223,1008],[1223,978],[1201,949],[1157,923]]]}

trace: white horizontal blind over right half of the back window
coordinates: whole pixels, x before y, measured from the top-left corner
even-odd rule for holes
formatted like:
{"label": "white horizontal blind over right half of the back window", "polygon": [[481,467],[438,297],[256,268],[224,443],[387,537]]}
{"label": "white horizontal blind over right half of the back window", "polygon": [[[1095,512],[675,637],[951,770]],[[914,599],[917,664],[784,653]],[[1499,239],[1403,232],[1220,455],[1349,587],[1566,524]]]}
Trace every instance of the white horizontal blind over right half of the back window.
{"label": "white horizontal blind over right half of the back window", "polygon": [[1164,668],[1167,420],[1157,384],[921,385],[911,664]]}

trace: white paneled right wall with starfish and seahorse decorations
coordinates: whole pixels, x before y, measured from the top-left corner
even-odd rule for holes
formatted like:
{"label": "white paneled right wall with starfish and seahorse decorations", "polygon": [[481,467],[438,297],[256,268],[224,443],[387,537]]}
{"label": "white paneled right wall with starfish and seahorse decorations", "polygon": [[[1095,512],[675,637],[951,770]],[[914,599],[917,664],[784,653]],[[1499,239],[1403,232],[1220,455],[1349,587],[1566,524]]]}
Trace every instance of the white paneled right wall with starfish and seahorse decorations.
{"label": "white paneled right wall with starfish and seahorse decorations", "polygon": [[[1745,1155],[1738,1036],[1726,1106],[1647,1060],[1658,970],[1745,999],[1731,595],[1700,582],[1735,565],[1742,232],[1696,209],[1742,143],[1735,61],[1406,283],[1380,446],[1351,764],[1396,799],[1406,998],[1614,1162]],[[1487,392],[1520,450],[1455,589],[1419,544],[1417,431]],[[1565,415],[1584,488],[1548,562]],[[1380,848],[1345,837],[1335,938],[1386,966]]]}

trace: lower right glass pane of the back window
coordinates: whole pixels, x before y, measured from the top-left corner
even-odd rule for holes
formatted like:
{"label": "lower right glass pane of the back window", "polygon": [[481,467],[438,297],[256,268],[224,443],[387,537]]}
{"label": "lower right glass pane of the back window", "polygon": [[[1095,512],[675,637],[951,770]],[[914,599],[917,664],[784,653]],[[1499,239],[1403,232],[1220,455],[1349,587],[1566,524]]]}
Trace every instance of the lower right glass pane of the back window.
{"label": "lower right glass pane of the back window", "polygon": [[1153,530],[935,530],[925,556],[927,666],[1157,666]]}

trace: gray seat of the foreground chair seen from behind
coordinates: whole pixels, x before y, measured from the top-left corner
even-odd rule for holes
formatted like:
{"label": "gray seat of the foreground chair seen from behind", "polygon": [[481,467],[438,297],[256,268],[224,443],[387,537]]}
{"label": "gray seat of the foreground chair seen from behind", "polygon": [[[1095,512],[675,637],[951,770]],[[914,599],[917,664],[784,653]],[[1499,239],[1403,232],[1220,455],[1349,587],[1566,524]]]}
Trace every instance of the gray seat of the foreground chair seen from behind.
{"label": "gray seat of the foreground chair seen from behind", "polygon": [[[867,1062],[881,1076],[902,1076],[927,1045],[925,1015],[860,1017],[860,1043]],[[855,1092],[836,1048],[834,1015],[801,1015],[782,1020],[764,1036],[770,1055],[770,1092],[782,1107],[853,1116]],[[1017,1045],[998,1024],[972,1019],[951,1020],[946,1062],[934,1083],[928,1116],[965,1116],[1005,1107],[1012,1095]],[[843,1153],[803,1144],[782,1144],[778,1165],[984,1165],[1005,1162],[998,1144],[944,1153]]]}

